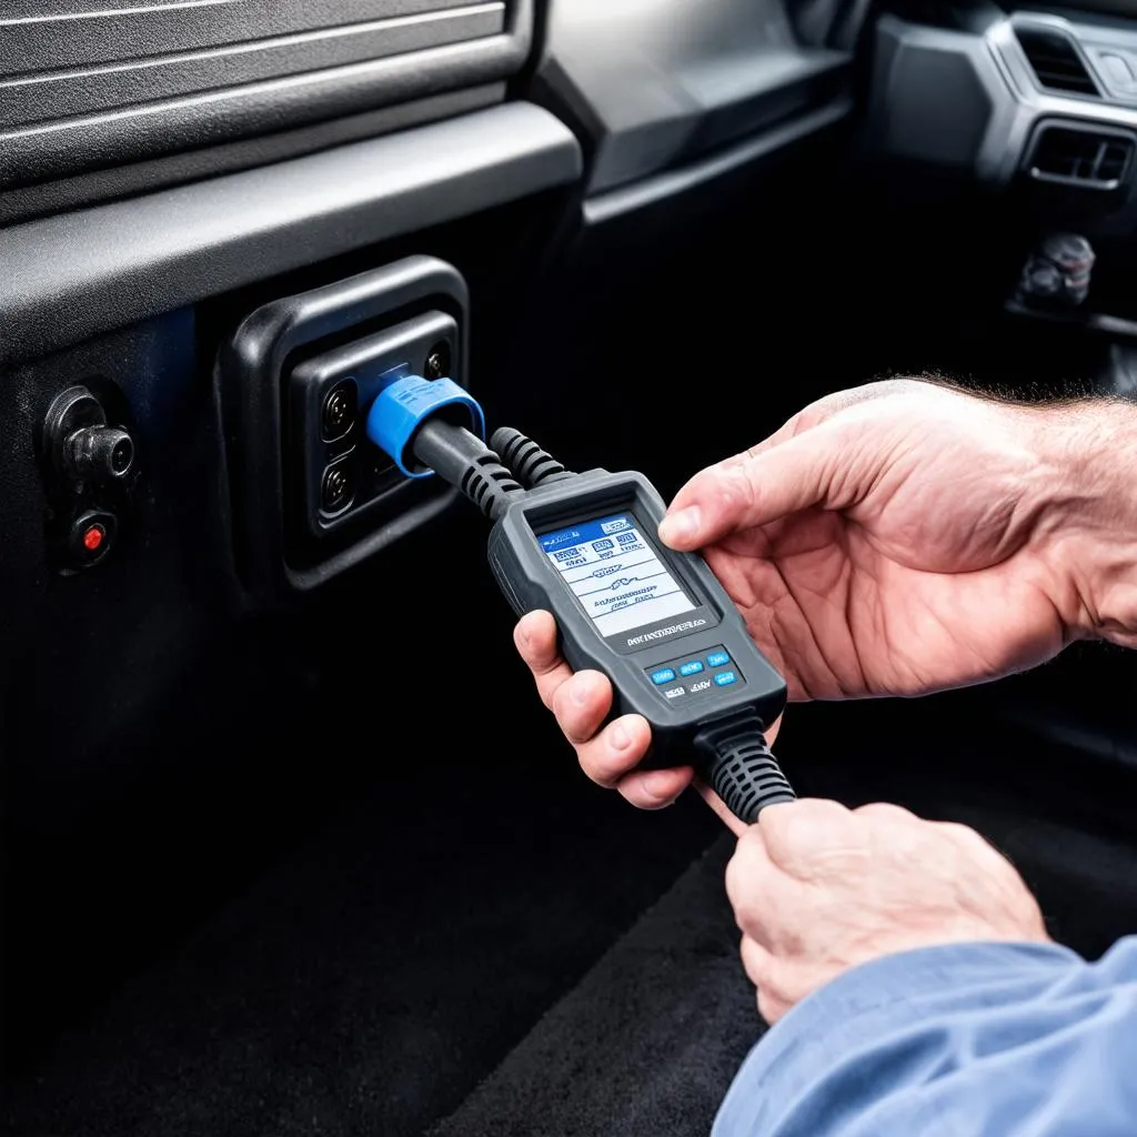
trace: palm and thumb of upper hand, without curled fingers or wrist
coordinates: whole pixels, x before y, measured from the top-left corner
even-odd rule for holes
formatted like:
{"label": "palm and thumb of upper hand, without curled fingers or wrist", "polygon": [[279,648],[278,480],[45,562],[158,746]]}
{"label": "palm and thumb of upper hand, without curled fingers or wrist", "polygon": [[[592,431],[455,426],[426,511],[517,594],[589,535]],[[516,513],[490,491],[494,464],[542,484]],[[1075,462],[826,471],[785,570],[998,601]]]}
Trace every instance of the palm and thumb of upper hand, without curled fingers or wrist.
{"label": "palm and thumb of upper hand, without curled fingers or wrist", "polygon": [[1076,634],[1055,414],[914,381],[844,391],[697,474],[659,534],[703,549],[791,698],[994,679]]}

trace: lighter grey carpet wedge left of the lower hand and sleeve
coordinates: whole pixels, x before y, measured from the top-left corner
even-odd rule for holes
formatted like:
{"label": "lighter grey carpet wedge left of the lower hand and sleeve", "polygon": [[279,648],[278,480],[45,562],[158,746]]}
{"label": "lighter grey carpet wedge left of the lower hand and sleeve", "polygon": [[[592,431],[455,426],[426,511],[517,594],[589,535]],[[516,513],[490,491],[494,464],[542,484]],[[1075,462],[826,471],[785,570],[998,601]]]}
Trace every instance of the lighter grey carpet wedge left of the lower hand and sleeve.
{"label": "lighter grey carpet wedge left of the lower hand and sleeve", "polygon": [[705,1137],[764,1024],[722,888],[696,862],[431,1137]]}

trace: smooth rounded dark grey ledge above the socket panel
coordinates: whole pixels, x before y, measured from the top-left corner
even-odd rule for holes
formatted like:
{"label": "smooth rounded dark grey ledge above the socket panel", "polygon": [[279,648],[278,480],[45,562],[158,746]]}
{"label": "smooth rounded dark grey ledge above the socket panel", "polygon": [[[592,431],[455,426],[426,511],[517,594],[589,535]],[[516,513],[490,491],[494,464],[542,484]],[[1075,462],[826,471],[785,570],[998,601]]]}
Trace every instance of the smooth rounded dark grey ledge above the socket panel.
{"label": "smooth rounded dark grey ledge above the socket panel", "polygon": [[575,182],[525,102],[0,230],[0,367],[100,331]]}

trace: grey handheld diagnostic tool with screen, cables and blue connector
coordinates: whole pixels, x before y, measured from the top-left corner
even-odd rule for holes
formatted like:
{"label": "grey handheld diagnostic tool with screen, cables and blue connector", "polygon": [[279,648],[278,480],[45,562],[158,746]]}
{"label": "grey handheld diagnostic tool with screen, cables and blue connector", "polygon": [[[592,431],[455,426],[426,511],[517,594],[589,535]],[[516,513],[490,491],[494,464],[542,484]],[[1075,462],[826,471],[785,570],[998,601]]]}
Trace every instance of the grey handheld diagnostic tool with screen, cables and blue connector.
{"label": "grey handheld diagnostic tool with screen, cables and blue connector", "polygon": [[792,800],[763,735],[786,683],[703,557],[658,541],[664,504],[647,478],[572,473],[508,429],[488,448],[459,425],[480,428],[476,405],[439,382],[384,391],[368,433],[405,473],[437,472],[495,521],[490,568],[514,612],[551,612],[572,667],[608,677],[614,714],[648,721],[647,765],[694,765],[746,822]]}

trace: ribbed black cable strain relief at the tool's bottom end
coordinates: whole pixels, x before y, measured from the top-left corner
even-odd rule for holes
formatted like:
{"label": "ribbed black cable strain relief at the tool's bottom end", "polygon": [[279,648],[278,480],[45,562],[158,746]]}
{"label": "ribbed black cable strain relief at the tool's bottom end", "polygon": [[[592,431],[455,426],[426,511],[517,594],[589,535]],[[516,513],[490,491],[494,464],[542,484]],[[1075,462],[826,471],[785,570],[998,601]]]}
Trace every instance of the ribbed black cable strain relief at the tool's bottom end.
{"label": "ribbed black cable strain relief at the tool's bottom end", "polygon": [[704,727],[695,736],[695,749],[700,758],[699,775],[748,825],[767,805],[797,799],[754,711]]}

